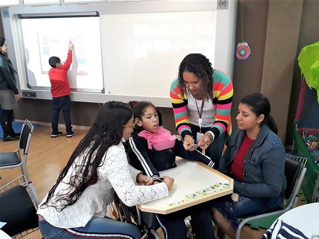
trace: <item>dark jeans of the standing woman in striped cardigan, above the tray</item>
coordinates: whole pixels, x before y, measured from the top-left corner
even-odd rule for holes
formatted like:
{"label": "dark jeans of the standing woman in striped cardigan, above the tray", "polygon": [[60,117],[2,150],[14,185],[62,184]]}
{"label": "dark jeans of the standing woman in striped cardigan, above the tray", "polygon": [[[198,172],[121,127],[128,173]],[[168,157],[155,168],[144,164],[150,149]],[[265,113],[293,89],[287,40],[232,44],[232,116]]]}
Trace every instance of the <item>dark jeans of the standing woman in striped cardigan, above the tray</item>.
{"label": "dark jeans of the standing woman in striped cardigan, above the tray", "polygon": [[[192,124],[189,124],[189,126],[190,126],[192,136],[194,140],[196,141],[196,135],[197,135],[197,132],[200,132],[200,127],[192,125]],[[202,127],[203,134],[205,134],[209,130],[210,128]],[[210,144],[210,146],[208,146],[205,152],[205,154],[209,156],[212,159],[212,161],[214,161],[215,165],[213,168],[217,170],[219,169],[219,161],[223,153],[225,140],[226,140],[225,133],[219,135],[218,138],[215,138],[214,141]],[[201,150],[201,149],[198,148],[198,150]]]}

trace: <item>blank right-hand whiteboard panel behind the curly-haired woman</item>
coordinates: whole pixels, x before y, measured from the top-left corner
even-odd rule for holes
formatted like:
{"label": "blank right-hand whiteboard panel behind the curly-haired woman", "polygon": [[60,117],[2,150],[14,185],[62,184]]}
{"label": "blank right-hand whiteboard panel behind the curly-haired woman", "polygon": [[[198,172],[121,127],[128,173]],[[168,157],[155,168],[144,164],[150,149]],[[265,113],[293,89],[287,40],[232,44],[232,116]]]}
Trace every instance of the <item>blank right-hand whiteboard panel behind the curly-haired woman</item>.
{"label": "blank right-hand whiteboard panel behind the curly-haired woman", "polygon": [[167,97],[189,53],[203,53],[214,67],[216,11],[115,14],[102,20],[103,29],[112,29],[103,31],[108,94]]}

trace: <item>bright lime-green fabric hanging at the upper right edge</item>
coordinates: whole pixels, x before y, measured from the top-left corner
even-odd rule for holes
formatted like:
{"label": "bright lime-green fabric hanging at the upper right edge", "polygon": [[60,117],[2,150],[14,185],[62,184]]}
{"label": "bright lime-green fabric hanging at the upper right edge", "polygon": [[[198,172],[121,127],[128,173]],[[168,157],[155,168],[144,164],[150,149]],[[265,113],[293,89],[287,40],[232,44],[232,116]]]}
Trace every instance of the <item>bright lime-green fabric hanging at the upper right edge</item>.
{"label": "bright lime-green fabric hanging at the upper right edge", "polygon": [[298,56],[298,63],[309,88],[317,90],[319,103],[319,42],[302,48]]}

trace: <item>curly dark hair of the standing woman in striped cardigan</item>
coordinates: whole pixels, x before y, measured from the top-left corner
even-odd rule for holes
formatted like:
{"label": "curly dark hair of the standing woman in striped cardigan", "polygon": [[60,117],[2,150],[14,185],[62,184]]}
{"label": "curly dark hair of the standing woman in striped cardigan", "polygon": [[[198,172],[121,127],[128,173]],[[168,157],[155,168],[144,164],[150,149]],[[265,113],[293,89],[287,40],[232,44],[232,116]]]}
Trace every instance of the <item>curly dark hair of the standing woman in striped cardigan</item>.
{"label": "curly dark hair of the standing woman in striped cardigan", "polygon": [[188,54],[179,65],[178,88],[181,94],[186,94],[186,84],[183,79],[184,71],[195,74],[202,80],[202,93],[206,100],[213,100],[213,72],[212,63],[201,53]]}

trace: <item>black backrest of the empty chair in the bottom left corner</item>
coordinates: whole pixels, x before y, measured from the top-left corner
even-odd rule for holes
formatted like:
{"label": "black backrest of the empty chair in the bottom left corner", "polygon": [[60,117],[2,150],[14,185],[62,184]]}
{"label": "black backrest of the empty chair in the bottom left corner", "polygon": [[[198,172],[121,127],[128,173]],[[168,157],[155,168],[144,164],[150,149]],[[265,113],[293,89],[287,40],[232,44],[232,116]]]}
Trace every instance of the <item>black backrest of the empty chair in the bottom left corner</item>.
{"label": "black backrest of the empty chair in the bottom left corner", "polygon": [[38,217],[32,200],[22,185],[0,193],[0,221],[7,222],[2,228],[14,236],[38,226]]}

